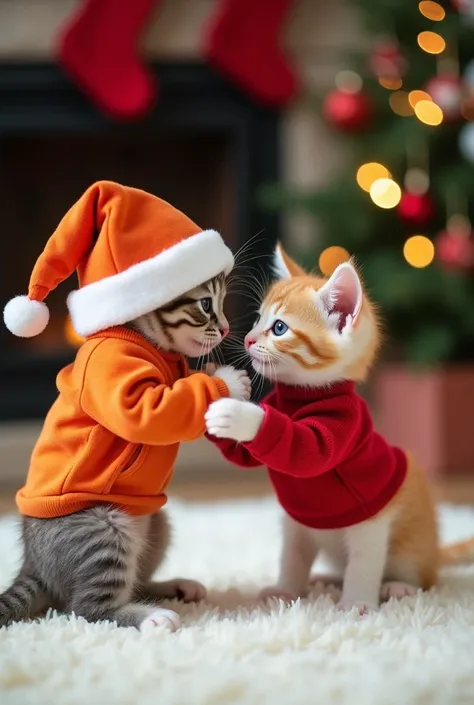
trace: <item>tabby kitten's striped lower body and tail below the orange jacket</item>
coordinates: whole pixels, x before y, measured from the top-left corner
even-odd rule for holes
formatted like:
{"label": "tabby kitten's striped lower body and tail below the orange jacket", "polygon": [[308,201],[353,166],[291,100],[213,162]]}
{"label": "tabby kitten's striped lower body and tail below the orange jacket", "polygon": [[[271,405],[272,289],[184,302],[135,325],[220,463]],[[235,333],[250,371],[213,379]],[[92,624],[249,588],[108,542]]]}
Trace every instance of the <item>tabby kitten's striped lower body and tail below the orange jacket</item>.
{"label": "tabby kitten's striped lower body and tail below the orange jacket", "polygon": [[156,611],[152,600],[205,594],[193,581],[151,582],[169,541],[163,511],[131,517],[97,506],[56,519],[22,521],[24,562],[0,595],[0,626],[55,607],[89,621],[138,628]]}

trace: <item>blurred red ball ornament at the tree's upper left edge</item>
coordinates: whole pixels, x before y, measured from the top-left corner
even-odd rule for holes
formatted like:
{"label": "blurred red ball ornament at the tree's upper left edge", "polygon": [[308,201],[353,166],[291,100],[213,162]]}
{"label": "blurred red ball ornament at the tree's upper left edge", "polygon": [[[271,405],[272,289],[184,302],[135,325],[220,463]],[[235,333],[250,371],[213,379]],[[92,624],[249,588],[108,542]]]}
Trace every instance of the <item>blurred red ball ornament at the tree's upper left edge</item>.
{"label": "blurred red ball ornament at the tree's upper left edge", "polygon": [[356,93],[334,90],[326,96],[323,115],[337,129],[357,132],[370,124],[372,103],[363,90]]}

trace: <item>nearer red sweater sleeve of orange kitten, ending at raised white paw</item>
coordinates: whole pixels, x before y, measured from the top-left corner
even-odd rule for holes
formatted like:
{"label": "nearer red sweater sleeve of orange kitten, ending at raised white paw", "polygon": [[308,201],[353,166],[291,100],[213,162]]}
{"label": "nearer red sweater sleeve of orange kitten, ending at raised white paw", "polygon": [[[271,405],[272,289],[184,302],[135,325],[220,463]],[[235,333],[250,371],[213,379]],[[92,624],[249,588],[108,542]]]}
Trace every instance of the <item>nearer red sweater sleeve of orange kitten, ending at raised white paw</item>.
{"label": "nearer red sweater sleeve of orange kitten, ending at raised white paw", "polygon": [[326,409],[323,417],[311,416],[306,409],[298,420],[272,407],[264,409],[257,436],[243,446],[255,462],[286,475],[322,475],[345,460],[360,438],[360,418],[350,403]]}

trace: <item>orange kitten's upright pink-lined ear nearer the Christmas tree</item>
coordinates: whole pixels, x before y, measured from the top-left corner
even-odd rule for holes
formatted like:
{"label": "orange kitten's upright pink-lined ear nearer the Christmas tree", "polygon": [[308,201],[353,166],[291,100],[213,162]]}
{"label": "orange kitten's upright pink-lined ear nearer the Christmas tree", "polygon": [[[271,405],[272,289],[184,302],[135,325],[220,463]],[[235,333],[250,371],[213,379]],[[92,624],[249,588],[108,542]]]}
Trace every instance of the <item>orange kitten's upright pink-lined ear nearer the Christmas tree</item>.
{"label": "orange kitten's upright pink-lined ear nearer the Christmas tree", "polygon": [[329,322],[339,333],[353,325],[362,308],[362,284],[354,266],[343,262],[319,289],[318,299]]}

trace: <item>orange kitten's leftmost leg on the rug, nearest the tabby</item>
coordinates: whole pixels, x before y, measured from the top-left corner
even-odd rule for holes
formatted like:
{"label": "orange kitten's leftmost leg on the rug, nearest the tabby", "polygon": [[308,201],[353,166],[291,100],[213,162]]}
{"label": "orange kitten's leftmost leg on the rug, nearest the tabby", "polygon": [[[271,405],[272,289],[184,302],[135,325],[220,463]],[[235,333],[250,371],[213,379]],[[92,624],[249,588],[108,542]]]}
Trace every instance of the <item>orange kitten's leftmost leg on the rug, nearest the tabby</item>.
{"label": "orange kitten's leftmost leg on the rug, nearest the tabby", "polygon": [[309,589],[311,566],[317,552],[318,544],[312,530],[286,516],[278,582],[262,590],[260,597],[277,597],[287,602],[305,597]]}

